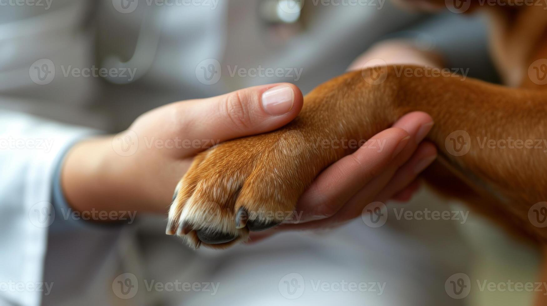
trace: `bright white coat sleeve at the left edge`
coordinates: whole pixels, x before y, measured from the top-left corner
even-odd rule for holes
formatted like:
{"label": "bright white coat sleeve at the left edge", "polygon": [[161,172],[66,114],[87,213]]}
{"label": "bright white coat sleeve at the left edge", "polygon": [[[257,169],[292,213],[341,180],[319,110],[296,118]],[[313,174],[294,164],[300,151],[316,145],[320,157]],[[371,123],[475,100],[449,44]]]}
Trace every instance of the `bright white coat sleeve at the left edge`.
{"label": "bright white coat sleeve at the left edge", "polygon": [[67,148],[94,133],[0,110],[0,302],[40,304],[54,173]]}

